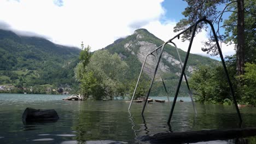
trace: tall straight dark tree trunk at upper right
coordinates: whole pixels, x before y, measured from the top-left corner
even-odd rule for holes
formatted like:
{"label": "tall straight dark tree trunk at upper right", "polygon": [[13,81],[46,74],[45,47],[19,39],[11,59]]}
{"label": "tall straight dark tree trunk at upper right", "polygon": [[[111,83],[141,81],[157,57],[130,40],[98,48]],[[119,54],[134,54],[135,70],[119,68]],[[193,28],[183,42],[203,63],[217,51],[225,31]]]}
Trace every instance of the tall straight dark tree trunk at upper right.
{"label": "tall straight dark tree trunk at upper right", "polygon": [[236,74],[244,73],[245,65],[245,10],[244,0],[237,1],[237,47],[236,47]]}

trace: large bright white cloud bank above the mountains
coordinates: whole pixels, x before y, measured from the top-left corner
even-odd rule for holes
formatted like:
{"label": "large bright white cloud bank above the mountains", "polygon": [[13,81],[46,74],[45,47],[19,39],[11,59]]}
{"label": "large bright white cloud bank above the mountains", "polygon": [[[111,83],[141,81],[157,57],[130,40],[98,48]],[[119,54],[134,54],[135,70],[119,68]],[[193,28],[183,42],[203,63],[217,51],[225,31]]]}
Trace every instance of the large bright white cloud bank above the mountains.
{"label": "large bright white cloud bank above the mountains", "polygon": [[164,14],[161,2],[1,0],[0,20],[12,29],[50,37],[54,43],[79,47],[84,41],[97,50],[131,34],[135,28],[160,19]]}

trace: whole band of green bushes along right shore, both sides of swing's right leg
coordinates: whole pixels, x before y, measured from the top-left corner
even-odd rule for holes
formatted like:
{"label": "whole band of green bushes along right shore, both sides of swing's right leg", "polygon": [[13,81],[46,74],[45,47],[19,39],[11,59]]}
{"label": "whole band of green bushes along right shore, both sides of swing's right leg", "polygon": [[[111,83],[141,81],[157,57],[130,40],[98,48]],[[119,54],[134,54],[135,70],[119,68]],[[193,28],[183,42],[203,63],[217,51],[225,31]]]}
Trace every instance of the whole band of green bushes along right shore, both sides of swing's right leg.
{"label": "whole band of green bushes along right shore, both sides of swing's right leg", "polygon": [[[236,76],[235,65],[228,65],[229,77],[233,83],[232,87],[235,90],[238,102],[255,105],[256,64],[246,63],[245,66],[245,74]],[[241,87],[237,87],[237,79],[243,82]],[[196,91],[196,100],[201,103],[232,103],[230,88],[222,66],[200,67],[199,70],[191,76],[189,83],[191,83],[191,88]]]}

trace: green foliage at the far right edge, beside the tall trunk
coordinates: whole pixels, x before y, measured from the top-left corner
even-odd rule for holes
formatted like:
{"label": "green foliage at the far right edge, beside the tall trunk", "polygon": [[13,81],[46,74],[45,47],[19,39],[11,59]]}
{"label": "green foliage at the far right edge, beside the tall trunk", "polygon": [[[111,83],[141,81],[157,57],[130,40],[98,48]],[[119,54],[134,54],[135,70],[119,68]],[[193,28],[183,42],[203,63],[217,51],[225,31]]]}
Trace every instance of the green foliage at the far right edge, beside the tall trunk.
{"label": "green foliage at the far right edge, beside the tall trunk", "polygon": [[249,105],[256,104],[256,64],[245,64],[245,75],[241,76],[243,86],[241,87],[242,102]]}

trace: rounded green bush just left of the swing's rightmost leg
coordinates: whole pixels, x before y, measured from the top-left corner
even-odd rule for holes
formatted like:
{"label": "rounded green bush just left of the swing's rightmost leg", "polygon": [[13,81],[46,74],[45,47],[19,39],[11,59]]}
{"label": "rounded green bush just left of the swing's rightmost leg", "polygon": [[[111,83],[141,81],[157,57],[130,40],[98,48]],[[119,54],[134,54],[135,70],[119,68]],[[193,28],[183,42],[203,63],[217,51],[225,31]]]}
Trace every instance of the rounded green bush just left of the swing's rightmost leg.
{"label": "rounded green bush just left of the swing's rightmost leg", "polygon": [[[231,71],[228,68],[228,71]],[[230,87],[222,66],[201,66],[189,81],[196,91],[196,100],[201,103],[229,103]]]}

